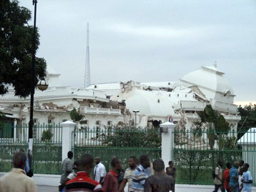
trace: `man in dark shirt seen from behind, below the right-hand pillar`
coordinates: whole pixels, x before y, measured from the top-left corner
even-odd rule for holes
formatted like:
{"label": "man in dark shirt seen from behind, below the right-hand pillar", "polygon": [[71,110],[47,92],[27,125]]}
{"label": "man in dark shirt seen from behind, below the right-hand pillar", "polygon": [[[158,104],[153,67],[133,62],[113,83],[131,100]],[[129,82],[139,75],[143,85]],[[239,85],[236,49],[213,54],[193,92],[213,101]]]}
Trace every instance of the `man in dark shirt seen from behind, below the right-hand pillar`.
{"label": "man in dark shirt seen from behind, below the right-hand pillar", "polygon": [[153,169],[155,171],[154,175],[145,180],[144,192],[174,191],[174,178],[165,174],[163,160],[156,159],[153,162]]}

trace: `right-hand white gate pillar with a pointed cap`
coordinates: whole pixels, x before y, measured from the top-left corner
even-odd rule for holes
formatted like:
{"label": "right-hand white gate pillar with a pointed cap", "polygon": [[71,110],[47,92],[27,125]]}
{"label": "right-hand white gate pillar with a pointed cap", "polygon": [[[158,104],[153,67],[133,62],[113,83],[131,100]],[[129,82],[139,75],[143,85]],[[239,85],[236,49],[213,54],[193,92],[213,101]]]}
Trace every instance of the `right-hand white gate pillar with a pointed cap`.
{"label": "right-hand white gate pillar with a pointed cap", "polygon": [[162,160],[165,167],[169,166],[168,162],[173,161],[173,145],[174,145],[174,134],[173,131],[176,124],[171,122],[165,122],[160,124],[160,132],[162,137]]}

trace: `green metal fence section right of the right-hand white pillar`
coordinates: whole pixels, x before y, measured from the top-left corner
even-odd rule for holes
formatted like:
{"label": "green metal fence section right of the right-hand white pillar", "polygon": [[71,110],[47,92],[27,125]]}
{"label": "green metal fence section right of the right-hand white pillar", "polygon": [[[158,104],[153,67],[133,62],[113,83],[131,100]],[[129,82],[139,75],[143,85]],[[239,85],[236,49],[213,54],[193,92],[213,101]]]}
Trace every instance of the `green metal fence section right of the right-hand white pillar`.
{"label": "green metal fence section right of the right-hand white pillar", "polygon": [[176,129],[173,137],[177,183],[212,184],[211,173],[218,160],[224,165],[244,160],[256,177],[256,129],[246,133]]}

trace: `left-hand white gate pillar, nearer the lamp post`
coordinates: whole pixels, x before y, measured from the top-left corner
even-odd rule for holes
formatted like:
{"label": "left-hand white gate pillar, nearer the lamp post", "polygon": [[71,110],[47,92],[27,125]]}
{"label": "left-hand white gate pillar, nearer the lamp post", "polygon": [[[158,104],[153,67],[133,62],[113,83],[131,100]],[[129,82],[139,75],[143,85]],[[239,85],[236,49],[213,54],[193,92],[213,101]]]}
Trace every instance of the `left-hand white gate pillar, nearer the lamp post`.
{"label": "left-hand white gate pillar, nearer the lamp post", "polygon": [[60,123],[62,126],[62,161],[68,157],[68,152],[72,150],[72,131],[76,123],[65,121]]}

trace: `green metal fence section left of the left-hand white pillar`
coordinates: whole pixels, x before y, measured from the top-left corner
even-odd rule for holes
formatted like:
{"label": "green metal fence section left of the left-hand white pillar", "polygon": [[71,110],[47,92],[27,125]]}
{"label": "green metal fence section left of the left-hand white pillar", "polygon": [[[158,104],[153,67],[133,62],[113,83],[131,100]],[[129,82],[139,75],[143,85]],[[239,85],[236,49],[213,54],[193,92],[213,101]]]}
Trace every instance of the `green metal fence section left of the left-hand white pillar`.
{"label": "green metal fence section left of the left-hand white pillar", "polygon": [[[24,148],[28,153],[28,124],[4,124],[0,138],[0,172],[9,172],[15,152]],[[33,170],[39,174],[60,174],[62,152],[60,124],[35,124],[33,127]]]}

